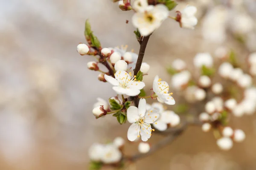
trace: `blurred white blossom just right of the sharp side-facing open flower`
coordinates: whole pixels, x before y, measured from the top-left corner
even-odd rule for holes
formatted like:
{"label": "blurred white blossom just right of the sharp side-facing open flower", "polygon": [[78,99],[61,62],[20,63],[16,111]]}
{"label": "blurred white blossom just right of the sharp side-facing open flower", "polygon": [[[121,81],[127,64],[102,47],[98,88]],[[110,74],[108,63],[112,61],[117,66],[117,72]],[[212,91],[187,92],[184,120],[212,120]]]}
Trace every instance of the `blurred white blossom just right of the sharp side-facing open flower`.
{"label": "blurred white blossom just right of the sharp side-facing open flower", "polygon": [[172,76],[172,87],[181,90],[183,85],[187,85],[191,78],[191,74],[189,71],[181,71]]}

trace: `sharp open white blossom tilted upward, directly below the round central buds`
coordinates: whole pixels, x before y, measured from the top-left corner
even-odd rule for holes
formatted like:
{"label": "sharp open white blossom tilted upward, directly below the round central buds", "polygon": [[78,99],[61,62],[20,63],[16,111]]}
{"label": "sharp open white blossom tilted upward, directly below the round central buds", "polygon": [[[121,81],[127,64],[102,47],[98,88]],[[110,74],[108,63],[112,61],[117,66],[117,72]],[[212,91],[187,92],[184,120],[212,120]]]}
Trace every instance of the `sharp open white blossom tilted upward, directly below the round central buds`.
{"label": "sharp open white blossom tilted upward, directly below the round central buds", "polygon": [[115,78],[105,74],[105,79],[113,85],[113,90],[117,94],[126,94],[128,96],[137,96],[140,90],[145,87],[145,83],[131,79],[131,73],[125,71],[116,71]]}

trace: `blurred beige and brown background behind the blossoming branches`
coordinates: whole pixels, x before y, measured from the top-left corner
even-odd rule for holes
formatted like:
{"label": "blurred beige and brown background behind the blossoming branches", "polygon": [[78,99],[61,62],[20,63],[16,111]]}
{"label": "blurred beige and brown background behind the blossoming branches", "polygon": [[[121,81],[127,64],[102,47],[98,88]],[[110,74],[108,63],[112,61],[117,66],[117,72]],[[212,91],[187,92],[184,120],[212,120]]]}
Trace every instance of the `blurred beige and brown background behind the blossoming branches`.
{"label": "blurred beige and brown background behind the blossoming branches", "polygon": [[[225,46],[243,61],[256,51],[255,0],[179,3],[177,9],[187,3],[198,8],[198,26],[181,29],[169,19],[154,32],[144,57],[151,66],[143,77],[148,92],[155,75],[171,79],[166,67],[174,59],[191,63],[198,52],[214,55],[216,48]],[[129,123],[121,126],[112,116],[93,116],[96,98],[108,99],[115,92],[87,69],[93,57],[80,56],[76,46],[86,42],[84,22],[89,18],[102,47],[128,45],[138,53],[132,14],[111,0],[0,0],[0,170],[86,170],[93,142],[126,139]],[[245,141],[230,151],[220,150],[212,133],[189,127],[136,167],[255,170],[256,115],[232,118],[230,123],[246,133]],[[149,142],[162,138],[155,134]],[[137,143],[125,150],[136,153]]]}

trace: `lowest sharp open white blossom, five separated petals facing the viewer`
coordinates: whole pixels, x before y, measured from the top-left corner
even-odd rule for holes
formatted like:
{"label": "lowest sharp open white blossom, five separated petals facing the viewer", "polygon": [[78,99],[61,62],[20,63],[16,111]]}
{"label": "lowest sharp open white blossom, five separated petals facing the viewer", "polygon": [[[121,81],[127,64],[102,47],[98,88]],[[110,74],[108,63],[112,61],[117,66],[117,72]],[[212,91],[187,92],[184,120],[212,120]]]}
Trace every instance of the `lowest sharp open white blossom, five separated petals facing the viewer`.
{"label": "lowest sharp open white blossom, five separated petals facing the viewer", "polygon": [[[159,113],[155,109],[151,109],[146,113],[146,100],[140,99],[138,108],[130,106],[127,109],[127,120],[132,123],[128,129],[127,137],[129,141],[134,141],[141,136],[144,142],[151,137],[151,123],[159,118]],[[156,124],[156,123],[155,123]]]}

